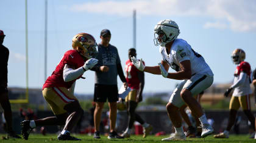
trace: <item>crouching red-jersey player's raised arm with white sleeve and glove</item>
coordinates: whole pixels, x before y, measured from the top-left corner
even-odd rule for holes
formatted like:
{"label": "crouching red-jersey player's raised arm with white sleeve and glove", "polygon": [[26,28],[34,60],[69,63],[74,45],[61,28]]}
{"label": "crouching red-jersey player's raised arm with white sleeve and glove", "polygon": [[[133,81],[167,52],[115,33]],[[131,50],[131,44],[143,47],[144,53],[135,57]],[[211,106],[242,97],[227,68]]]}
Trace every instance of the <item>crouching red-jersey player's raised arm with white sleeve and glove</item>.
{"label": "crouching red-jersey player's raised arm with white sleeve and glove", "polygon": [[79,76],[84,74],[85,71],[90,70],[94,65],[98,63],[98,59],[88,59],[82,67],[74,70],[74,67],[71,65],[65,64],[63,68],[63,79],[65,82],[73,81],[77,79]]}

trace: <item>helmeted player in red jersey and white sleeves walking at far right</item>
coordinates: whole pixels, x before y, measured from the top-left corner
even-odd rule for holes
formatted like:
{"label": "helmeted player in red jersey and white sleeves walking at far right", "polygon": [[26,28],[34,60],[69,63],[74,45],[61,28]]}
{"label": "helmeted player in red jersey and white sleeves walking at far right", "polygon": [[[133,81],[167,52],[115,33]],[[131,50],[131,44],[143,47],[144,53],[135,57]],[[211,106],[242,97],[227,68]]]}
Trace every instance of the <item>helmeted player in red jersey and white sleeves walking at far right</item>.
{"label": "helmeted player in red jersey and white sleeves walking at far right", "polygon": [[252,125],[255,125],[254,115],[251,112],[250,96],[252,90],[250,87],[251,84],[251,65],[248,62],[245,62],[246,54],[244,50],[236,48],[232,53],[232,61],[234,64],[237,64],[235,70],[235,78],[233,85],[227,89],[224,93],[224,96],[229,96],[229,93],[234,89],[232,98],[230,99],[229,104],[229,122],[227,124],[226,130],[223,133],[215,135],[215,138],[229,138],[229,131],[235,123],[235,117],[238,109],[243,108],[243,111]]}

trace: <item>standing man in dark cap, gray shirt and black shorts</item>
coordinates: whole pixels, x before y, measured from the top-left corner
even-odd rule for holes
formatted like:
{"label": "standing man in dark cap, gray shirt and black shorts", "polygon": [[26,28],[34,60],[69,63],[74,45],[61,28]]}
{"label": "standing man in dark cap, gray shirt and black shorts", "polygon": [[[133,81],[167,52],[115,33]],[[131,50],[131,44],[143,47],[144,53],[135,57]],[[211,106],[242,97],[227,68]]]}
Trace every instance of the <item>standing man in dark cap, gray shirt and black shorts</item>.
{"label": "standing man in dark cap, gray shirt and black shorts", "polygon": [[122,139],[115,131],[116,124],[116,101],[118,101],[118,86],[117,75],[127,87],[126,78],[124,77],[123,68],[118,55],[118,50],[115,46],[109,44],[111,33],[109,30],[104,29],[101,31],[101,43],[98,45],[98,64],[92,70],[95,72],[95,85],[94,85],[94,102],[96,108],[94,110],[94,138],[99,139],[99,123],[101,122],[101,112],[104,103],[108,100],[108,107],[110,115],[110,133],[108,139]]}

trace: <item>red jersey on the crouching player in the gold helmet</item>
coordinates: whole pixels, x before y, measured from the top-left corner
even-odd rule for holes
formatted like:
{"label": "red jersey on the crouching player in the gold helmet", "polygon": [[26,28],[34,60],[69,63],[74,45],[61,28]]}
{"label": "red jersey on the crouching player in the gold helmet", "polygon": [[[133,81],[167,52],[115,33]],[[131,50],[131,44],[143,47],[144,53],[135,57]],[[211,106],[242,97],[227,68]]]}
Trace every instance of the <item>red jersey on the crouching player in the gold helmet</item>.
{"label": "red jersey on the crouching player in the gold helmet", "polygon": [[[43,89],[46,87],[65,87],[70,88],[72,84],[76,81],[74,79],[73,81],[65,82],[63,79],[63,68],[65,64],[70,65],[71,67],[74,67],[74,69],[77,69],[79,67],[82,67],[84,65],[84,59],[82,56],[76,51],[76,50],[68,50],[62,60],[59,62],[55,70],[53,71],[52,75],[49,76],[44,85]],[[79,76],[79,78],[81,78]],[[77,79],[79,79],[77,78]]]}

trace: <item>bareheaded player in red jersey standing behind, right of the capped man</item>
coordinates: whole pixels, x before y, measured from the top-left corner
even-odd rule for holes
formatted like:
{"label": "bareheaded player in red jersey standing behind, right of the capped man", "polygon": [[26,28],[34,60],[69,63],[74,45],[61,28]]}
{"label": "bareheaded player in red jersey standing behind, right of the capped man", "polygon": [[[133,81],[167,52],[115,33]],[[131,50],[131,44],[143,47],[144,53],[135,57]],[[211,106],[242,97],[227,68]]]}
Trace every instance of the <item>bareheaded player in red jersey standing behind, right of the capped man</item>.
{"label": "bareheaded player in red jersey standing behind, right of the capped man", "polygon": [[132,131],[134,121],[140,122],[143,126],[143,138],[146,138],[150,131],[152,131],[152,126],[144,122],[144,120],[135,113],[135,109],[139,102],[142,101],[142,91],[144,87],[144,72],[138,70],[133,64],[130,58],[136,57],[137,53],[135,48],[130,48],[128,51],[129,59],[126,61],[126,81],[128,87],[132,90],[126,96],[127,105],[127,115],[128,115],[128,125],[126,131],[124,131],[124,138],[130,138],[130,133]]}

